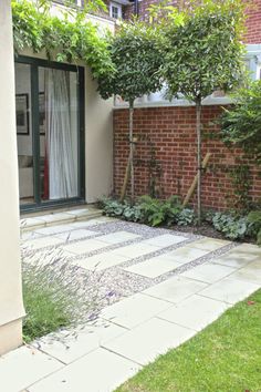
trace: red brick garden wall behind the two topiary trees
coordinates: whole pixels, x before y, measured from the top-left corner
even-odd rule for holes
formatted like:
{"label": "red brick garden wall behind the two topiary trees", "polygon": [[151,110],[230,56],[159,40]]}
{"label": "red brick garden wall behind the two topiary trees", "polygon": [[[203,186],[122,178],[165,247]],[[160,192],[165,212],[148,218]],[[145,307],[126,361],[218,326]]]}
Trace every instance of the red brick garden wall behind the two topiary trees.
{"label": "red brick garden wall behind the two topiary trees", "polygon": [[[227,168],[240,158],[240,151],[232,153],[215,138],[218,126],[209,124],[220,113],[219,106],[206,106],[202,114],[205,134],[202,155],[212,153],[209,168],[202,180],[202,204],[206,208],[225,209],[231,206],[233,186]],[[185,197],[196,175],[196,115],[194,107],[136,109],[134,131],[138,137],[135,153],[135,194],[149,194],[155,180],[156,193]],[[128,111],[114,111],[114,189],[119,195],[128,157]],[[261,197],[261,177],[251,165],[253,183],[251,197]],[[150,184],[150,185],[149,185]],[[229,196],[230,195],[230,196]],[[194,199],[195,202],[195,199]]]}

